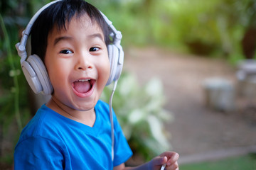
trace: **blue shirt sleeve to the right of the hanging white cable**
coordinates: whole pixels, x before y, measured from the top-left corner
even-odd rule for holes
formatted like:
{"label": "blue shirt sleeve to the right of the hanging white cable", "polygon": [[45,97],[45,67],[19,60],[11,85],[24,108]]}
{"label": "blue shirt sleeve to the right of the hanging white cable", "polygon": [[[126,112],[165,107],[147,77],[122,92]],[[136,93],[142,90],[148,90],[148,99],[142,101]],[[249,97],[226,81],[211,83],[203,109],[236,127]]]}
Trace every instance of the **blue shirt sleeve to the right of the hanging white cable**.
{"label": "blue shirt sleeve to the right of the hanging white cable", "polygon": [[129,147],[126,137],[122,132],[122,128],[119,125],[116,115],[114,118],[114,166],[118,166],[126,162],[132,157],[132,149]]}

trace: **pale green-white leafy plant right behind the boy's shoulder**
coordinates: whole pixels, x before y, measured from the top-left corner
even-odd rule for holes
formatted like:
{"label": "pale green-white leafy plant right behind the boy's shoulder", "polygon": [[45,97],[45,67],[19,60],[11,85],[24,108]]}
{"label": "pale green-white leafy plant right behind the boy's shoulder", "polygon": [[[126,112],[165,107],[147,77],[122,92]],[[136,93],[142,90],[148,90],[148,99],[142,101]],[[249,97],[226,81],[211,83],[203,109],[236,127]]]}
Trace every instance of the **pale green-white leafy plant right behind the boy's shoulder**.
{"label": "pale green-white leafy plant right behind the boy's shoulder", "polygon": [[[112,86],[102,93],[102,100],[108,102]],[[149,160],[170,149],[169,134],[164,122],[171,120],[171,113],[164,110],[163,86],[159,79],[151,79],[145,86],[139,86],[132,74],[123,73],[114,93],[112,107],[117,115],[124,135],[134,154]]]}

